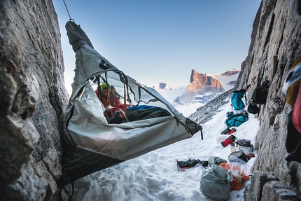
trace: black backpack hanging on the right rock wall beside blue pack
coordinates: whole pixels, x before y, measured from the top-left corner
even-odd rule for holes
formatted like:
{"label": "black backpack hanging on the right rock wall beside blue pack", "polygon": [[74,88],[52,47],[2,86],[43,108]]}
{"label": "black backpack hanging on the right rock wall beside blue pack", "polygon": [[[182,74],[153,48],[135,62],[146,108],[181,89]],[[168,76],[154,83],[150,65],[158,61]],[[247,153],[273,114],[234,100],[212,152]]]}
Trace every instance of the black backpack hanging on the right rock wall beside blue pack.
{"label": "black backpack hanging on the right rock wall beside blue pack", "polygon": [[251,102],[248,105],[249,113],[259,113],[260,109],[258,108],[257,104],[265,104],[267,102],[268,89],[269,81],[267,80],[267,77],[265,77],[265,81],[263,81],[262,84],[253,91]]}

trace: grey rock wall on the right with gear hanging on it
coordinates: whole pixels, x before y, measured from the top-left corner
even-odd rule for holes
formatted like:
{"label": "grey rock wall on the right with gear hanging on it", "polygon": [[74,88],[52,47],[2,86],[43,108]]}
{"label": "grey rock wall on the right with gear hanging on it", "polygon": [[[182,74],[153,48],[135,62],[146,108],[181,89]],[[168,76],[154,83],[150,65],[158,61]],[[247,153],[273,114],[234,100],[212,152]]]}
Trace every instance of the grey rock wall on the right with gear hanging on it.
{"label": "grey rock wall on the right with gear hanging on it", "polygon": [[[297,1],[263,0],[253,23],[251,45],[235,89],[251,84],[254,88],[265,77],[270,81],[267,104],[262,105],[260,130],[255,149],[258,158],[245,200],[298,200],[301,190],[301,164],[288,162],[286,155],[286,117],[290,106],[281,88],[298,55],[301,53],[301,16]],[[301,153],[300,153],[301,154]],[[300,194],[299,194],[300,196]]]}

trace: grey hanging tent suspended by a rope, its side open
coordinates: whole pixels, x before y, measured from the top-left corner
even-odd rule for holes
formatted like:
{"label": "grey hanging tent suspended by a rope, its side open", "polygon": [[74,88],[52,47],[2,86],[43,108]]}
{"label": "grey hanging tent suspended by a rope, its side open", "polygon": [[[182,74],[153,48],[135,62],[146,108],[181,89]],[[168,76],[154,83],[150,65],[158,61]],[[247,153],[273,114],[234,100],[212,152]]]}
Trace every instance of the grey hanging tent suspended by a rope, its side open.
{"label": "grey hanging tent suspended by a rope, its side open", "polygon": [[[66,23],[66,31],[76,53],[76,69],[64,115],[63,174],[57,181],[59,188],[92,172],[192,137],[196,132],[202,134],[200,125],[176,111],[156,90],[123,74],[99,55],[73,20]],[[94,92],[94,87],[101,83],[113,86],[121,102],[130,105],[124,109],[125,116],[133,110],[139,114],[148,110],[151,115],[109,124],[104,105]],[[169,115],[160,116],[158,110]]]}

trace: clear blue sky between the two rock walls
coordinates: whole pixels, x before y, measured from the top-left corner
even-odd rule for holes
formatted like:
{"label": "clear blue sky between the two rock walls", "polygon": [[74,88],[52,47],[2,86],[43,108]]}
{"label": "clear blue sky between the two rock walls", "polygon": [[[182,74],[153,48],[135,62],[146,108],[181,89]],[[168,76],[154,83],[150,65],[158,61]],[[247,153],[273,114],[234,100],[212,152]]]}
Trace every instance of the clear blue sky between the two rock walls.
{"label": "clear blue sky between the two rock walls", "polygon": [[[149,87],[187,86],[191,70],[223,74],[240,69],[248,54],[260,0],[65,0],[71,19],[94,49]],[[64,25],[63,0],[53,0],[62,35],[64,78],[71,94],[75,53]]]}

